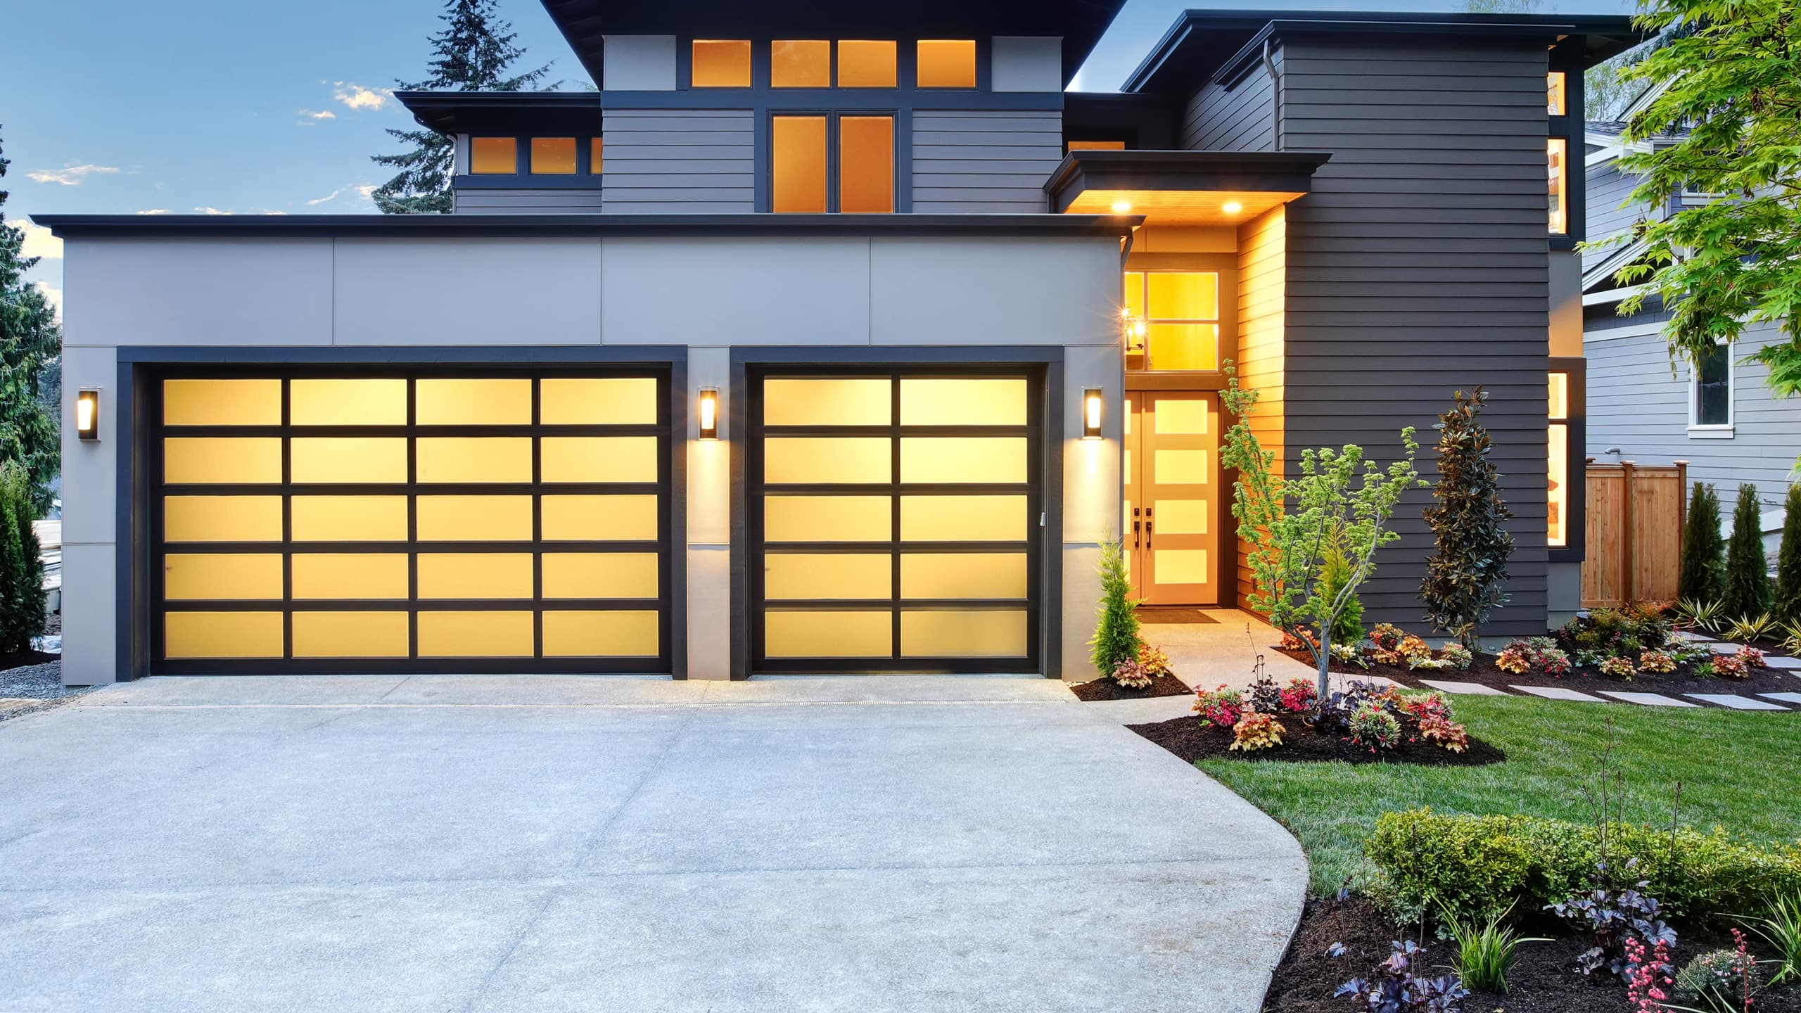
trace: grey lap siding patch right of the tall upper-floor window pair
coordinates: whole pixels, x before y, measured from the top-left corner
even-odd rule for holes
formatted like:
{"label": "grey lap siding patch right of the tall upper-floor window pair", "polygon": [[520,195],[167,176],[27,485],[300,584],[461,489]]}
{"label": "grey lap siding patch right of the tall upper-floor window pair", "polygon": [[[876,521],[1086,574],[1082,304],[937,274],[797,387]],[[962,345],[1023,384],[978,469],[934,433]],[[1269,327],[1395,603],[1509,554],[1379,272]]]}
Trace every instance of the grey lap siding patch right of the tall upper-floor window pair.
{"label": "grey lap siding patch right of the tall upper-floor window pair", "polygon": [[1063,160],[1063,114],[919,110],[913,114],[913,211],[1034,214]]}

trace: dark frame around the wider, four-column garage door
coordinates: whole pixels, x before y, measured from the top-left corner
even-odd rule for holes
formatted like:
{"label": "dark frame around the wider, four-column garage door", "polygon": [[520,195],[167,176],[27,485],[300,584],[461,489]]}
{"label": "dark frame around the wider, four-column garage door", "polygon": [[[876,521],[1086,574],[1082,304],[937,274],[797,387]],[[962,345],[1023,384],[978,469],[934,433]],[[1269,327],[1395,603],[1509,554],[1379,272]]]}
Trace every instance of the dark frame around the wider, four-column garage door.
{"label": "dark frame around the wider, four-column garage door", "polygon": [[[495,371],[569,371],[594,368],[636,368],[657,375],[665,384],[665,404],[659,406],[668,420],[668,452],[659,461],[659,470],[666,474],[663,490],[661,526],[668,532],[668,548],[661,566],[661,607],[666,609],[666,622],[659,631],[663,640],[666,671],[677,680],[688,678],[688,629],[686,629],[686,472],[688,472],[688,350],[684,346],[643,348],[643,346],[425,346],[425,348],[119,348],[117,389],[110,393],[106,411],[117,413],[117,672],[119,680],[137,680],[153,674],[155,662],[155,625],[157,595],[153,579],[157,573],[157,510],[153,505],[157,479],[157,452],[153,440],[160,433],[160,420],[155,418],[153,384],[164,375],[187,370],[409,370],[409,371],[447,371],[470,373],[479,370]],[[438,672],[600,672],[634,671],[647,667],[657,674],[657,662],[647,665],[594,663],[585,660],[533,660],[533,658],[493,658],[493,660],[369,660],[353,662],[357,672],[389,674],[416,672],[425,667]],[[182,663],[184,674],[252,674],[279,671],[290,674],[304,672],[340,672],[344,662],[281,662],[279,665],[259,662],[204,662]],[[155,669],[155,671],[160,671]]]}

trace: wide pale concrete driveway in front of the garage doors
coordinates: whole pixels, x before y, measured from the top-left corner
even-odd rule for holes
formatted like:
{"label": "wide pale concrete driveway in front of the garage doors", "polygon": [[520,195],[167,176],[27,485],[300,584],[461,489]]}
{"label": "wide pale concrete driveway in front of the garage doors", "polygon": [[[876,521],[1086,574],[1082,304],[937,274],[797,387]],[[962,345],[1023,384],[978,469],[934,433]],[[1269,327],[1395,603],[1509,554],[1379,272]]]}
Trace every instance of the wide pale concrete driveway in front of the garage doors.
{"label": "wide pale concrete driveway in front of the garage doors", "polygon": [[5,1013],[1255,1011],[1306,887],[1043,680],[148,680],[0,771]]}

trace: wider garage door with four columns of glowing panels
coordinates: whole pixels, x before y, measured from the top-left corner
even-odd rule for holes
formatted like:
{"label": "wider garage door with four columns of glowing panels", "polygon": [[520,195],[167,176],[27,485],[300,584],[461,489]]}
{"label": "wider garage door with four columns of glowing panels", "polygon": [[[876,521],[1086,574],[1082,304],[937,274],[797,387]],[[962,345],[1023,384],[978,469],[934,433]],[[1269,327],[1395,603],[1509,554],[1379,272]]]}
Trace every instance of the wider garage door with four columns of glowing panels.
{"label": "wider garage door with four columns of glowing panels", "polygon": [[153,671],[668,671],[666,377],[153,388]]}

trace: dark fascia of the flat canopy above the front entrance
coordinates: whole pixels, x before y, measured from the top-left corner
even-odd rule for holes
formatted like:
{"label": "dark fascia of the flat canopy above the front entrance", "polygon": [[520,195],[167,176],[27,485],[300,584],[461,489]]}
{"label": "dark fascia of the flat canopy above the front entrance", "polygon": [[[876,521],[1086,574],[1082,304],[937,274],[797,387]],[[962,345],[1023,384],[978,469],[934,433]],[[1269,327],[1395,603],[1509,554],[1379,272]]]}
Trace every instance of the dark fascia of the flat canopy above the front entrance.
{"label": "dark fascia of the flat canopy above the front entrance", "polygon": [[1311,193],[1326,151],[1070,151],[1045,180],[1052,207],[1086,189]]}

